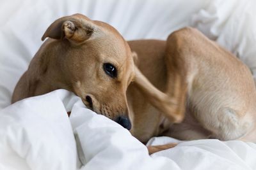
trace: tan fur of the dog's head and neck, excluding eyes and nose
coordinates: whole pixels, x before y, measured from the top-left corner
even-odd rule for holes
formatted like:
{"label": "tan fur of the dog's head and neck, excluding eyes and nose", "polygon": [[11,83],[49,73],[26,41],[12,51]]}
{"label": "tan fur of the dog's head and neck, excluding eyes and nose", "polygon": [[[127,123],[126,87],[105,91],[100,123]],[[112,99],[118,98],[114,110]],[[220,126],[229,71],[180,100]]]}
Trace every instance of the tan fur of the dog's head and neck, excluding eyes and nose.
{"label": "tan fur of the dog's head and neck, excluding eyes and nose", "polygon": [[[125,92],[134,76],[134,62],[129,45],[113,27],[76,14],[52,23],[42,39],[47,37],[17,83],[13,103],[67,89],[89,108],[85,98],[90,95],[93,111],[106,117],[130,115]],[[117,78],[104,73],[106,62],[115,64]]]}

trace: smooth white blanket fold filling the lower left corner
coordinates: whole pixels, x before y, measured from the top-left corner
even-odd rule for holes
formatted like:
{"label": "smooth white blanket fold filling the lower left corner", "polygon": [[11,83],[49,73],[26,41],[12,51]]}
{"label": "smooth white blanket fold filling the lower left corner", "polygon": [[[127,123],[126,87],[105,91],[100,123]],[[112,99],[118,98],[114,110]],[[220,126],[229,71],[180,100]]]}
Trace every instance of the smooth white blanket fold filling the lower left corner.
{"label": "smooth white blanket fold filling the lower left corner", "polygon": [[76,169],[76,141],[64,107],[71,96],[60,90],[0,112],[0,169]]}

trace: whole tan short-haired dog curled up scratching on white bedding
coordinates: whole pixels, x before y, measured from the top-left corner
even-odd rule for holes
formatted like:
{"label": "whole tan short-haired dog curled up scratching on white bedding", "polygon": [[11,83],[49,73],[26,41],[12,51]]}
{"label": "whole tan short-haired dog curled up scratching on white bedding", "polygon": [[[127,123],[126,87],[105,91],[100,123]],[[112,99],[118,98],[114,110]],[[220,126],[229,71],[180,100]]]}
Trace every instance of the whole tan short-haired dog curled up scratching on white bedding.
{"label": "whole tan short-haired dog curled up scratching on white bedding", "polygon": [[250,69],[196,29],[180,29],[166,41],[127,42],[110,25],[76,14],[53,22],[45,38],[12,103],[67,89],[143,143],[161,135],[256,141]]}

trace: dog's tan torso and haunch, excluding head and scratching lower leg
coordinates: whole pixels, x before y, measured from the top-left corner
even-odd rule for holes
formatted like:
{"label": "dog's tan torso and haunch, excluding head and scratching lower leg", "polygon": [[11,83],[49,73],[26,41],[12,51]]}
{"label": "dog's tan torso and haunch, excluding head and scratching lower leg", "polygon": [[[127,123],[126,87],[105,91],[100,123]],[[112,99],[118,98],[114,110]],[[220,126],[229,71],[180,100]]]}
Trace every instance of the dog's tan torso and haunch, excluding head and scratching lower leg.
{"label": "dog's tan torso and haunch, excluding head and scratching lower leg", "polygon": [[166,45],[172,46],[170,53],[184,57],[188,88],[186,116],[182,123],[172,124],[131,85],[127,97],[132,101],[136,138],[147,141],[167,135],[184,140],[256,141],[255,85],[250,70],[231,53],[190,28],[173,32],[167,43],[141,40],[129,45],[138,53],[138,68],[163,92],[171,83],[167,81]]}

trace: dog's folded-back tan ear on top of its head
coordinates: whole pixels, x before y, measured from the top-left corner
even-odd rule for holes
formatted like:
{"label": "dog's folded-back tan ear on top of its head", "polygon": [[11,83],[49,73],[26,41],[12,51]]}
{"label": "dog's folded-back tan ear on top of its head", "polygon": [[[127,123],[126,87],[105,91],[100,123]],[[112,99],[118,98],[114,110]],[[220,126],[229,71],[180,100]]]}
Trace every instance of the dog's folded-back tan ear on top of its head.
{"label": "dog's folded-back tan ear on top of its head", "polygon": [[68,39],[76,43],[83,43],[92,36],[95,31],[95,24],[89,18],[81,14],[75,14],[67,17],[59,18],[54,21],[42,36],[53,39]]}

